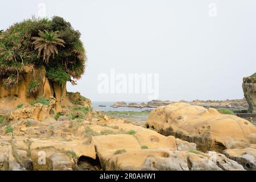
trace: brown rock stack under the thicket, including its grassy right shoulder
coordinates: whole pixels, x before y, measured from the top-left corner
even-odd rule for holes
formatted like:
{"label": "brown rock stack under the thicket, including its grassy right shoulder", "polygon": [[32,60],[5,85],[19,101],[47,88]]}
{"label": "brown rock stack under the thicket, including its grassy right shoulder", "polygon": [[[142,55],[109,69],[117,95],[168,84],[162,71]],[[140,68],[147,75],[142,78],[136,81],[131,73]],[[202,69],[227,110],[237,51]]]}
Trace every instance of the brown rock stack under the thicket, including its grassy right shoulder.
{"label": "brown rock stack under the thicket, including its grassy right shoulder", "polygon": [[[38,82],[38,91],[28,95],[28,87],[34,80]],[[59,84],[48,80],[44,66],[24,66],[22,79],[19,79],[18,85],[13,89],[7,89],[3,78],[0,77],[0,109],[16,109],[18,105],[30,104],[31,101],[42,97],[55,98],[55,104],[51,108],[55,113],[61,112],[63,107],[76,104],[90,107],[90,100],[82,97],[79,92],[67,93],[66,96],[65,82]]]}

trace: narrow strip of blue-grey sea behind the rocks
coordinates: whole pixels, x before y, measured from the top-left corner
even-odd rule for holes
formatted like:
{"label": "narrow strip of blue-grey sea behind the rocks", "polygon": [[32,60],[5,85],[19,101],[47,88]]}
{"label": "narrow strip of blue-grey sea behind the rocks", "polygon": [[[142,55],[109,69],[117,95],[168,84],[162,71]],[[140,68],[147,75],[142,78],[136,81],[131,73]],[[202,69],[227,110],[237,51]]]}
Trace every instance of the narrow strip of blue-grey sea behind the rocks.
{"label": "narrow strip of blue-grey sea behind the rocks", "polygon": [[[111,107],[114,103],[115,102],[92,102],[92,107],[93,107],[94,110],[101,110],[101,111],[105,111],[105,112],[107,112],[107,111],[144,111],[144,110],[155,109],[155,108],[151,108],[151,107],[143,107],[143,108],[137,108],[137,107]],[[141,102],[136,102],[136,103],[140,104]],[[106,107],[101,107],[99,105],[105,105]]]}

